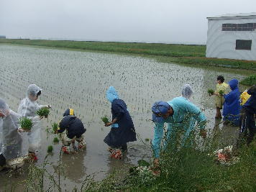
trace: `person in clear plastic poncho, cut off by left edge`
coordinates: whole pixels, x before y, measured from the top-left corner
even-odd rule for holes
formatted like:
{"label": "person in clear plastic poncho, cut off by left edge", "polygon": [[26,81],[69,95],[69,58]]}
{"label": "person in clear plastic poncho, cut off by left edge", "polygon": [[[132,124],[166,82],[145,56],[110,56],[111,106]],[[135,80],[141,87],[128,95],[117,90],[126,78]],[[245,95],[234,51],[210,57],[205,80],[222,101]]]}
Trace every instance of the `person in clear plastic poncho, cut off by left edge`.
{"label": "person in clear plastic poncho, cut off by left edge", "polygon": [[0,170],[17,169],[24,164],[22,137],[18,132],[19,117],[0,99]]}

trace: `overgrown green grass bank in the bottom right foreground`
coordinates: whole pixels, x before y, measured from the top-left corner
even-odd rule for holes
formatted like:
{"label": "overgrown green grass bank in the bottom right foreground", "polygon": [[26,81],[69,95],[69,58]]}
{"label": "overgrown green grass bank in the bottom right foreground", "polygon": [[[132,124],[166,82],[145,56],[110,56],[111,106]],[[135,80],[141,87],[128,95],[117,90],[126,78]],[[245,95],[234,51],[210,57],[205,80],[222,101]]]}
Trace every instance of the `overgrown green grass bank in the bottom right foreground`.
{"label": "overgrown green grass bank in the bottom right foreground", "polygon": [[160,160],[161,173],[155,179],[129,175],[116,185],[106,178],[88,191],[255,191],[256,140],[239,150],[233,165],[216,163],[216,156],[193,147],[169,147]]}

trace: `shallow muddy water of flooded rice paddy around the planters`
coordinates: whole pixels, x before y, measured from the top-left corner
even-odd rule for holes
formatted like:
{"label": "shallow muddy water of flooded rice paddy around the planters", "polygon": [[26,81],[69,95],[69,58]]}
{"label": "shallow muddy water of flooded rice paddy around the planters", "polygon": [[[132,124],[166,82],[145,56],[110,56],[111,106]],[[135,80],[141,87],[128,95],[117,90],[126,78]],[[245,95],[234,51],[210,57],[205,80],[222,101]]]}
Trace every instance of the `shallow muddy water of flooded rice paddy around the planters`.
{"label": "shallow muddy water of flooded rice paddy around the planters", "polygon": [[[150,159],[150,146],[145,138],[152,139],[153,136],[153,124],[149,120],[152,103],[180,96],[180,88],[185,83],[193,86],[191,101],[205,109],[208,129],[212,132],[214,124],[218,122],[214,119],[214,98],[209,98],[207,89],[215,88],[218,75],[223,75],[227,81],[243,78],[237,74],[158,63],[140,57],[10,45],[0,45],[0,66],[0,97],[14,111],[17,111],[19,102],[24,98],[29,83],[43,88],[39,104],[52,105],[50,117],[43,120],[38,165],[42,164],[47,155],[47,146],[53,145],[55,137],[47,134],[45,129],[52,122],[59,122],[65,109],[75,109],[76,116],[85,124],[87,149],[79,151],[77,155],[60,157],[66,165],[65,185],[70,189],[81,186],[86,175],[95,173],[95,179],[100,180],[115,168],[136,164],[141,158]],[[111,105],[105,99],[109,86],[114,86],[120,98],[127,103],[138,135],[137,142],[129,144],[129,153],[122,161],[111,160],[103,142],[109,128],[103,126],[100,118],[111,116]],[[236,127],[224,127],[222,124],[215,127],[214,132],[225,131],[223,140],[227,144],[234,140],[230,135],[237,131]],[[53,154],[47,157],[51,163],[48,169],[52,173],[57,171],[61,144],[53,146]],[[23,175],[11,176],[11,183],[27,177],[27,166]],[[3,183],[9,182],[10,179],[1,172],[0,188]]]}

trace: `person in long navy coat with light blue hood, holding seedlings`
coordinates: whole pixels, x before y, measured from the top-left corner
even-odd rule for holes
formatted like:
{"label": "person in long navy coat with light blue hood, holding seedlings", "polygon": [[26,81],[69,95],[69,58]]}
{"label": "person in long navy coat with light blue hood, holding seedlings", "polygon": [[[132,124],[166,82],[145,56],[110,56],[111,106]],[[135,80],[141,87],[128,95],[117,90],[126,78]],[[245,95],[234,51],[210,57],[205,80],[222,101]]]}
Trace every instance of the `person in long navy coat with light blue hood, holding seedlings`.
{"label": "person in long navy coat with light blue hood, holding seedlings", "polygon": [[106,91],[106,99],[111,103],[112,121],[105,124],[106,127],[111,126],[111,130],[104,142],[109,145],[111,157],[121,159],[122,152],[127,151],[127,142],[136,141],[136,132],[132,117],[127,111],[127,104],[119,99],[113,86]]}

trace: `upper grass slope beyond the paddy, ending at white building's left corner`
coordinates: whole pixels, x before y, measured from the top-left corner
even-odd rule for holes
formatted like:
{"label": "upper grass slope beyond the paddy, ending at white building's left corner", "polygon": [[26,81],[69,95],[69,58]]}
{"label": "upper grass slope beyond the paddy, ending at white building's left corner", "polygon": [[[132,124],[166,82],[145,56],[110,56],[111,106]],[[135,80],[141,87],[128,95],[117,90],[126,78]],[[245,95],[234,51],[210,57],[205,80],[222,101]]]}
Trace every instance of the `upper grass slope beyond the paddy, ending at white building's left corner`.
{"label": "upper grass slope beyond the paddy, ending at white building's left corner", "polygon": [[109,52],[129,52],[147,55],[165,55],[172,57],[204,57],[204,45],[173,45],[160,43],[126,43],[126,42],[81,42],[56,40],[1,40],[3,43],[22,45],[39,45],[47,47],[65,47],[81,50],[98,50]]}

